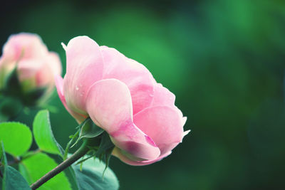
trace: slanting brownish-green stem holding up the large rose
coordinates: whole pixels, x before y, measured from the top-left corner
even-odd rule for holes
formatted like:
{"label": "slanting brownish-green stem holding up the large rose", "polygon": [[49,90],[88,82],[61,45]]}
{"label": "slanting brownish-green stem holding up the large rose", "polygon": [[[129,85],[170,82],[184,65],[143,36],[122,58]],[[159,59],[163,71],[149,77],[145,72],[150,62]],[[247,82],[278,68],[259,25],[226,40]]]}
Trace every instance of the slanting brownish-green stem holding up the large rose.
{"label": "slanting brownish-green stem holding up the large rose", "polygon": [[37,189],[40,187],[42,184],[46,183],[49,179],[53,178],[53,176],[56,176],[59,174],[61,171],[64,169],[68,168],[76,162],[78,159],[83,157],[87,152],[89,151],[88,149],[88,140],[85,140],[81,147],[71,155],[68,159],[65,161],[61,162],[57,167],[55,167],[53,170],[49,171],[46,175],[42,176],[41,179],[38,179],[35,183],[31,184],[31,189]]}

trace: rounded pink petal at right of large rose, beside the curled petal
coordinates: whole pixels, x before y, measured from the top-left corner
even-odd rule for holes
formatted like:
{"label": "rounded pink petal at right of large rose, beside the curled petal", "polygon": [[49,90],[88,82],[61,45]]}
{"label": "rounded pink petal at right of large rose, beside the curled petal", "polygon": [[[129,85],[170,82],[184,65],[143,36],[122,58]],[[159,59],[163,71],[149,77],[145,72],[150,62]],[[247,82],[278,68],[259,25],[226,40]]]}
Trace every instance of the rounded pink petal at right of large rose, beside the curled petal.
{"label": "rounded pink petal at right of large rose, beside the curled petal", "polygon": [[170,152],[183,137],[183,120],[175,108],[150,107],[134,116],[135,125],[150,136],[161,154]]}

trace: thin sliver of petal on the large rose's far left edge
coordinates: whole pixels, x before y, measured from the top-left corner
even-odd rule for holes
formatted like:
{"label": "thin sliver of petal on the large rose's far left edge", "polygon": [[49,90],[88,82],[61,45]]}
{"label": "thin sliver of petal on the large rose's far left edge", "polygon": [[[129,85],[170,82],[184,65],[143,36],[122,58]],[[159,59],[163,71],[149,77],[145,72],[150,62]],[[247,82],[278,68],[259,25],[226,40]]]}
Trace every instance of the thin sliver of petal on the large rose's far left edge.
{"label": "thin sliver of petal on the large rose's far left edge", "polygon": [[61,102],[63,103],[64,107],[66,107],[66,110],[68,110],[68,112],[74,117],[76,118],[76,121],[78,123],[83,122],[86,119],[85,115],[81,115],[78,114],[76,112],[73,112],[71,109],[69,109],[69,107],[66,105],[66,98],[63,95],[63,78],[61,78],[60,75],[57,75],[55,77],[55,81],[56,81],[56,89],[58,92],[58,97],[61,99]]}

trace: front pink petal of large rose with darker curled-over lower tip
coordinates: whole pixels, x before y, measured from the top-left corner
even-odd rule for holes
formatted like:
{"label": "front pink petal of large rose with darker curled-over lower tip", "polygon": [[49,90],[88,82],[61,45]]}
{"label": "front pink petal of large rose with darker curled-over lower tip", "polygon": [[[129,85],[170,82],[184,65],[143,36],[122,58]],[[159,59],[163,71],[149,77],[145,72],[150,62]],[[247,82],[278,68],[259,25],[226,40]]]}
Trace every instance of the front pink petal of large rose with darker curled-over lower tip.
{"label": "front pink petal of large rose with darker curled-over lower tip", "polygon": [[160,149],[133,124],[133,107],[128,86],[120,80],[100,80],[88,91],[86,110],[103,128],[116,147],[142,159],[155,159]]}

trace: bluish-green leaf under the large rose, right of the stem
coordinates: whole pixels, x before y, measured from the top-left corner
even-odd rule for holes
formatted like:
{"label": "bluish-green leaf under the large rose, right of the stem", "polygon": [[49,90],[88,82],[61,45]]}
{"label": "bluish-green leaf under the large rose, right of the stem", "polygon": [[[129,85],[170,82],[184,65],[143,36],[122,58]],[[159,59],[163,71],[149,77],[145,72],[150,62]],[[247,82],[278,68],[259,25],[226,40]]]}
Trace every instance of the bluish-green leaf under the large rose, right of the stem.
{"label": "bluish-green leaf under the large rose, right of the stem", "polygon": [[[73,165],[80,190],[115,190],[119,182],[110,168],[105,170],[105,164],[98,159],[89,159],[83,163],[82,171],[79,165]],[[103,172],[105,170],[104,178]]]}

